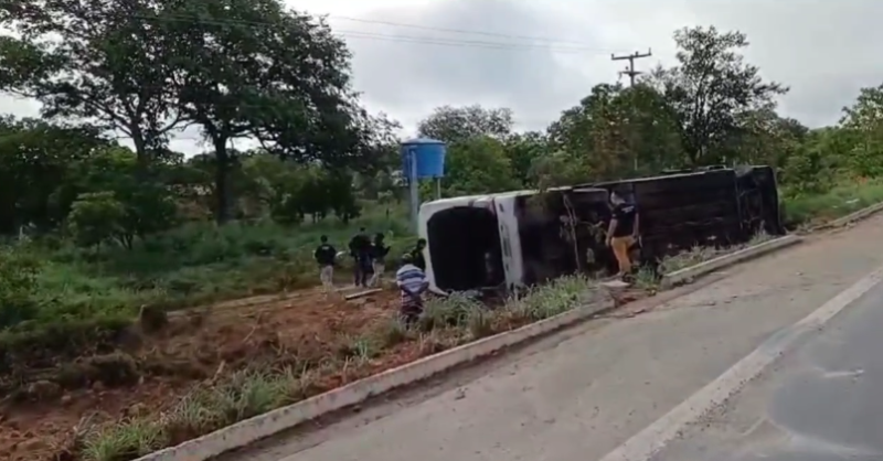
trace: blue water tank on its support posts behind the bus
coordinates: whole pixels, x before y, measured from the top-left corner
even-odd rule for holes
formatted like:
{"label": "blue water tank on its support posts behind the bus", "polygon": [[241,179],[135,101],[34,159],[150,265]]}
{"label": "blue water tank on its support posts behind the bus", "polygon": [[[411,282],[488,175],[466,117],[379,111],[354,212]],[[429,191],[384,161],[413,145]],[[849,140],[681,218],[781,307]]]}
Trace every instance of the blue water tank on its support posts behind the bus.
{"label": "blue water tank on its support posts behind the bus", "polygon": [[414,232],[417,232],[421,206],[419,180],[436,180],[436,199],[440,199],[446,154],[447,144],[436,139],[417,138],[402,142],[402,173],[407,179]]}

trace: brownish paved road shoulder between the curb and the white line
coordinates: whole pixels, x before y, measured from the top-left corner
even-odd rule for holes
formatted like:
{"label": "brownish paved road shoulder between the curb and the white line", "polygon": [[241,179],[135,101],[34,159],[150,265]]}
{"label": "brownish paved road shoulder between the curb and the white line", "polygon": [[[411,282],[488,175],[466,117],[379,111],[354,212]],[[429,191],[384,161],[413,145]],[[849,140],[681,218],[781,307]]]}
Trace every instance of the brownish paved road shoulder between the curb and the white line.
{"label": "brownish paved road shoulder between the curb and the white line", "polygon": [[588,322],[382,410],[223,460],[600,459],[883,265],[883,253],[869,246],[881,239],[880,216],[812,236],[635,317]]}

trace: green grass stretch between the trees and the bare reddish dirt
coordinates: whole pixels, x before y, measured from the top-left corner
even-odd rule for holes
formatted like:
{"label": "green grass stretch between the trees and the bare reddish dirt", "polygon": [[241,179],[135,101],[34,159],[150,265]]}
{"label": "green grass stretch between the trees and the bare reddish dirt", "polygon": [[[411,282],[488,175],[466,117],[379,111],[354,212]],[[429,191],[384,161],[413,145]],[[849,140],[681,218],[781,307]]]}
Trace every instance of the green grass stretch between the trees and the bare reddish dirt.
{"label": "green grass stretch between the trees and the bare reddish dirt", "polygon": [[20,315],[0,315],[0,334],[11,326],[21,331],[45,322],[134,315],[142,305],[178,309],[312,286],[318,281],[312,250],[319,237],[327,235],[344,250],[359,227],[384,233],[393,255],[414,245],[402,210],[389,217],[382,210],[369,212],[345,225],[333,217],[297,227],[191,223],[150,236],[132,249],[83,249],[63,242],[8,245],[0,265],[9,274],[24,260],[35,269],[33,277],[15,281],[14,289],[3,290],[0,280],[0,301],[10,304],[15,297],[23,305]]}

